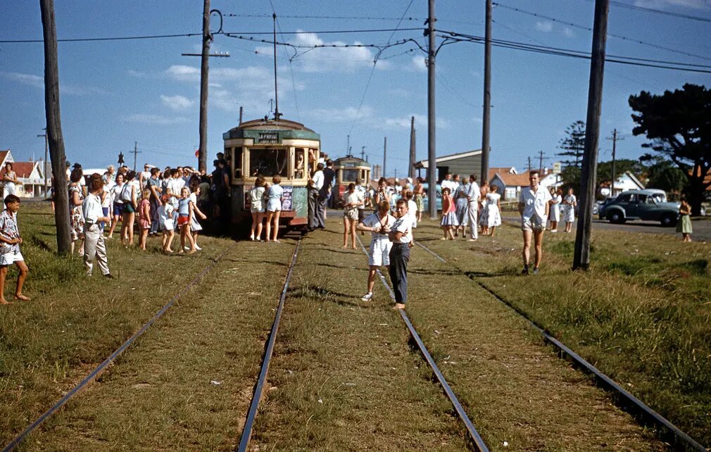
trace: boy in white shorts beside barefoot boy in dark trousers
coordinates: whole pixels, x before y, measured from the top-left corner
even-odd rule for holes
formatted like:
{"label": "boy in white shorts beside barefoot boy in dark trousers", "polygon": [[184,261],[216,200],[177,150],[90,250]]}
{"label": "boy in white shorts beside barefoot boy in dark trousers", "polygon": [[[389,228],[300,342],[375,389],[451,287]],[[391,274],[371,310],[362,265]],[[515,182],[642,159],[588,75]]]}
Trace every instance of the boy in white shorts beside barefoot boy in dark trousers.
{"label": "boy in white shorts beside barefoot boy in dark trousers", "polygon": [[360,298],[363,301],[373,300],[373,285],[375,284],[375,273],[379,267],[390,266],[390,248],[392,242],[387,238],[390,227],[395,224],[395,217],[390,215],[390,203],[380,201],[378,212],[365,217],[365,220],[355,227],[360,231],[370,231],[373,239],[370,240],[370,252],[368,252],[368,293]]}

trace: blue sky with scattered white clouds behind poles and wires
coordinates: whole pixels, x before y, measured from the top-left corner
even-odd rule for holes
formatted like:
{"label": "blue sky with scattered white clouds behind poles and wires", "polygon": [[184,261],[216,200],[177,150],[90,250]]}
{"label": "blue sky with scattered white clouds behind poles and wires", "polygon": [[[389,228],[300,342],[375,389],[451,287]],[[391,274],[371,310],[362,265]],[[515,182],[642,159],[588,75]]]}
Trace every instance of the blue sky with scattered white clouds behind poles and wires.
{"label": "blue sky with scattered white clouds behind poles and wires", "polygon": [[[620,2],[711,18],[711,0]],[[570,24],[592,28],[592,1],[498,3],[501,6],[493,10],[493,38],[589,51],[592,33]],[[395,28],[403,14],[400,29],[423,28],[427,0],[412,1],[406,13],[410,0],[272,0],[272,4],[281,31],[304,32],[277,35],[277,41],[352,45],[413,38],[423,46],[426,42],[419,30],[323,32]],[[238,4],[213,0],[211,7],[225,15],[223,31],[269,32],[272,4],[269,0]],[[57,1],[55,9],[59,38],[201,31],[202,1],[198,0]],[[439,0],[436,14],[439,30],[483,36],[483,0]],[[38,1],[3,2],[0,30],[0,41],[41,39]],[[711,55],[709,22],[611,6],[608,32],[630,38],[609,36],[609,55],[711,65],[711,58],[705,56]],[[129,152],[137,141],[139,166],[196,165],[200,59],[181,53],[199,52],[200,43],[200,36],[60,43],[60,102],[68,160],[80,161],[85,168],[105,166],[115,163],[121,151],[132,164]],[[407,169],[411,116],[416,118],[417,158],[427,158],[427,70],[424,53],[405,53],[411,48],[415,45],[388,48],[374,70],[375,51],[370,48],[316,48],[297,55],[291,63],[294,50],[277,48],[279,111],[319,132],[321,146],[331,156],[346,154],[350,134],[353,154],[359,155],[365,146],[369,160],[382,163],[387,136],[387,175],[394,176],[395,171],[402,175]],[[274,97],[271,44],[217,35],[212,50],[228,52],[231,57],[210,59],[210,160],[223,146],[223,132],[237,125],[240,105],[245,108],[245,120],[256,119],[269,112],[269,99]],[[523,168],[526,159],[536,158],[540,150],[550,165],[557,160],[556,146],[565,128],[585,118],[589,61],[495,47],[492,68],[491,166]],[[482,74],[483,45],[454,43],[437,55],[438,156],[481,147]],[[611,136],[614,128],[625,138],[617,147],[619,158],[637,158],[645,151],[640,146],[643,139],[631,136],[629,95],[674,90],[685,82],[710,87],[711,74],[607,63],[601,160],[611,158],[611,142],[604,137]],[[0,104],[0,149],[12,149],[18,160],[43,156],[43,140],[36,137],[45,127],[41,43],[0,43]]]}

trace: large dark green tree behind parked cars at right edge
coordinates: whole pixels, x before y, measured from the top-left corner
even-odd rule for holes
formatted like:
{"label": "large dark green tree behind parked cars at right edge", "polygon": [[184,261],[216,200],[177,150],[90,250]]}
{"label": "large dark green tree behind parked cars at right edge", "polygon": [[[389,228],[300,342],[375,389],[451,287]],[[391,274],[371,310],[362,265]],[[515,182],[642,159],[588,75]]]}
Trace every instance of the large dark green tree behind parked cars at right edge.
{"label": "large dark green tree behind parked cars at right edge", "polygon": [[635,135],[646,134],[643,144],[670,158],[687,178],[686,193],[694,215],[699,215],[711,169],[711,90],[686,84],[682,90],[652,95],[642,91],[629,97],[636,114]]}

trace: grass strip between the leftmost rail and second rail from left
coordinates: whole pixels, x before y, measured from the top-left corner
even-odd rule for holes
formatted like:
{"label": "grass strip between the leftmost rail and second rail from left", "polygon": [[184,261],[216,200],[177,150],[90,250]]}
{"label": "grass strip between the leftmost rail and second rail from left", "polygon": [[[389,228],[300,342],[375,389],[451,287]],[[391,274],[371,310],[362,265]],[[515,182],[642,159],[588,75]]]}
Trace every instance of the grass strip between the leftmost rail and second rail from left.
{"label": "grass strip between the leftmost rail and second rail from left", "polygon": [[235,450],[292,249],[235,245],[31,448]]}

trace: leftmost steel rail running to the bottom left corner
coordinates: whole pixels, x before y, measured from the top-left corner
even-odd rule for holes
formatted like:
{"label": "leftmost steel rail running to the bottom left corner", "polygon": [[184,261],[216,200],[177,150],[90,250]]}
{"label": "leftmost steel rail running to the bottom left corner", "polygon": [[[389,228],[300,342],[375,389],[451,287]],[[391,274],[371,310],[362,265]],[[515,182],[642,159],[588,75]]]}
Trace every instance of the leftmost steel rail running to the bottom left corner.
{"label": "leftmost steel rail running to the bottom left corner", "polygon": [[109,355],[109,357],[107,357],[100,365],[95,367],[95,369],[92,370],[89,375],[84,377],[84,379],[82,381],[80,381],[75,387],[70,389],[70,391],[67,392],[67,394],[65,394],[64,397],[59,399],[59,402],[57,402],[56,404],[53,405],[53,407],[51,407],[50,409],[45,411],[44,414],[42,414],[41,416],[39,416],[36,419],[36,421],[34,421],[32,424],[30,424],[30,426],[28,426],[26,429],[24,429],[21,434],[19,434],[12,441],[10,441],[8,443],[8,445],[3,448],[2,452],[13,451],[14,448],[19,446],[19,444],[23,441],[23,439],[25,439],[29,434],[31,434],[33,431],[35,431],[37,429],[37,427],[40,426],[44,421],[46,421],[50,416],[52,416],[52,414],[54,414],[55,411],[57,411],[58,409],[63,407],[69,401],[69,399],[74,397],[78,392],[80,392],[81,389],[84,389],[84,387],[87,386],[87,384],[96,380],[96,377],[98,377],[101,374],[101,372],[103,372],[106,369],[106,367],[108,367],[112,362],[114,362],[114,360],[116,360],[116,358],[124,350],[126,350],[129,345],[131,345],[134,342],[134,340],[139,338],[139,336],[141,336],[143,333],[145,333],[146,330],[151,325],[153,325],[153,323],[155,323],[156,320],[158,320],[161,316],[163,316],[163,314],[166,313],[166,311],[168,311],[169,308],[171,308],[171,306],[173,306],[173,303],[178,301],[178,299],[181,298],[181,296],[183,296],[183,294],[185,294],[186,291],[191,289],[191,287],[193,285],[195,285],[199,281],[201,281],[201,279],[203,279],[203,276],[205,276],[205,274],[207,274],[208,271],[212,270],[213,267],[215,267],[215,265],[220,261],[220,259],[222,259],[223,256],[225,254],[227,254],[227,252],[230,251],[230,249],[232,249],[232,247],[234,247],[234,244],[232,244],[230,247],[228,247],[228,249],[225,249],[225,251],[223,251],[222,254],[220,254],[213,261],[212,264],[210,264],[208,267],[203,269],[203,271],[201,271],[201,273],[198,274],[198,276],[193,278],[193,280],[190,281],[187,286],[183,287],[183,289],[181,291],[179,291],[178,294],[176,294],[176,296],[173,296],[173,298],[171,298],[171,301],[166,303],[166,305],[163,306],[160,309],[160,311],[158,311],[153,317],[151,317],[151,319],[149,321],[147,321],[143,326],[141,326],[141,328],[136,333],[134,333],[130,338],[128,338],[126,340],[126,342],[124,342],[119,348],[117,348],[114,351],[114,353]]}

